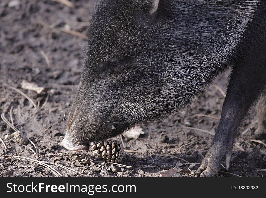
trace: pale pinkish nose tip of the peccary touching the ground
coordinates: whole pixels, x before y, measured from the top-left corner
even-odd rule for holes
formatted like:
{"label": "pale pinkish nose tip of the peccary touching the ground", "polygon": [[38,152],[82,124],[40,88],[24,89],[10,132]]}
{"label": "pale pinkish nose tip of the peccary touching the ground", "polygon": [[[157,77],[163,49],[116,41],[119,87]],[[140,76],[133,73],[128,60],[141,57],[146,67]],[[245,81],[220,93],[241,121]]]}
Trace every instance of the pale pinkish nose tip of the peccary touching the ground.
{"label": "pale pinkish nose tip of the peccary touching the ground", "polygon": [[71,151],[88,149],[88,145],[80,143],[76,138],[67,134],[62,140],[61,145]]}

